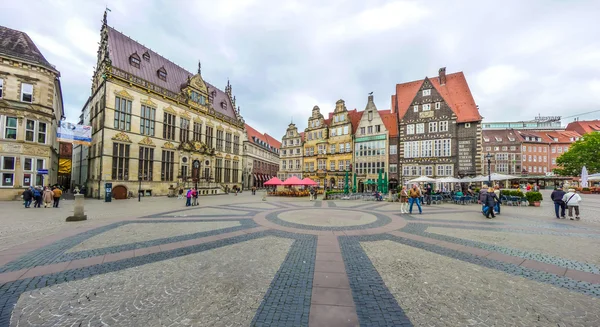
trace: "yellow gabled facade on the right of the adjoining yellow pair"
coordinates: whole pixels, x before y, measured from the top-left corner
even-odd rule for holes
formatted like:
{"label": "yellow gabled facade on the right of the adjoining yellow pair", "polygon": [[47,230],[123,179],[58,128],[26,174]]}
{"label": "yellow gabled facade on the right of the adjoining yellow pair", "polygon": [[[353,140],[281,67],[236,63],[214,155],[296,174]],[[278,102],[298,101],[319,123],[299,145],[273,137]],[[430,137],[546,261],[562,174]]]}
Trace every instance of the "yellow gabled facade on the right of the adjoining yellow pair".
{"label": "yellow gabled facade on the right of the adjoining yellow pair", "polygon": [[352,121],[344,100],[338,100],[328,119],[327,186],[343,189],[346,172],[352,183]]}

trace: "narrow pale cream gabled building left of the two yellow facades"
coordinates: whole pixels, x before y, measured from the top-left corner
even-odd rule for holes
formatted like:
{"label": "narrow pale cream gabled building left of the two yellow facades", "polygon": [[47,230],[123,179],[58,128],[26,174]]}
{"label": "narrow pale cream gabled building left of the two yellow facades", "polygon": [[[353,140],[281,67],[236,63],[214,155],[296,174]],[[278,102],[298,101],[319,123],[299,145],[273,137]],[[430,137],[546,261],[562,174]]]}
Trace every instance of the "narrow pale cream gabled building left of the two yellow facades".
{"label": "narrow pale cream gabled building left of the two yellow facades", "polygon": [[298,133],[296,124],[290,123],[285,135],[281,138],[280,163],[277,177],[282,181],[292,176],[302,179],[302,167],[304,165],[303,134]]}

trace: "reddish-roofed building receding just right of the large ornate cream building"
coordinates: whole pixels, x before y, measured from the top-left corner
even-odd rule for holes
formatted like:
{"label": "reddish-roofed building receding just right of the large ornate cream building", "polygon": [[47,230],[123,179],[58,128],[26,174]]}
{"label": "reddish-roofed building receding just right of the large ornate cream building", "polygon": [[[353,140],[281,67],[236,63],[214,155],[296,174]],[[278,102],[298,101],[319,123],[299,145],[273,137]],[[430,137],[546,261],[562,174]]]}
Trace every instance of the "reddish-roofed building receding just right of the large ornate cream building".
{"label": "reddish-roofed building receding just right of the large ornate cream building", "polygon": [[263,187],[269,179],[277,176],[281,143],[269,134],[263,134],[246,124],[247,141],[244,141],[244,185]]}

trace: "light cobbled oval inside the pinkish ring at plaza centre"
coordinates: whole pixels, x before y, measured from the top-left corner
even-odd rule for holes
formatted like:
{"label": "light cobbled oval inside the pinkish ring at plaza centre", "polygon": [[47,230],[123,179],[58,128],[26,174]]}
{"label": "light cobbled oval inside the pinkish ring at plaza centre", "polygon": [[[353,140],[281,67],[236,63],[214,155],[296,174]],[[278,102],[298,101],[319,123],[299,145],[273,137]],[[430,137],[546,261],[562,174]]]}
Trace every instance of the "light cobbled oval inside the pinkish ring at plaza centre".
{"label": "light cobbled oval inside the pinkish ring at plaza centre", "polygon": [[320,209],[291,210],[277,217],[290,223],[322,227],[366,225],[377,220],[376,216],[360,211]]}

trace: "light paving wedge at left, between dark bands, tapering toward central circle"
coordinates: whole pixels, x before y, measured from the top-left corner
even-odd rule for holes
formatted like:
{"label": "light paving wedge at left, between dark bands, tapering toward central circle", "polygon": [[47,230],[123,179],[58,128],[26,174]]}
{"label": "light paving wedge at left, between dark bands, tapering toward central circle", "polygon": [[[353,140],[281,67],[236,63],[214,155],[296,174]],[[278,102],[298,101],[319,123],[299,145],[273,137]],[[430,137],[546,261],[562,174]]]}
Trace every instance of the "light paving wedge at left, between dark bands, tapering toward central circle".
{"label": "light paving wedge at left, between dark bands, tapering toward central circle", "polygon": [[101,249],[109,246],[144,242],[159,238],[194,234],[236,226],[240,226],[238,221],[177,222],[160,224],[131,223],[95,235],[69,249],[66,253]]}

